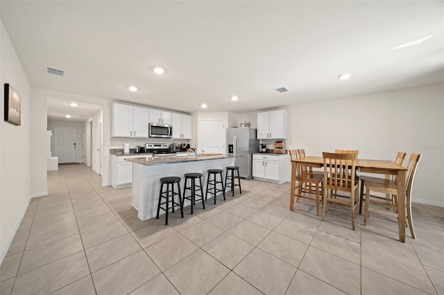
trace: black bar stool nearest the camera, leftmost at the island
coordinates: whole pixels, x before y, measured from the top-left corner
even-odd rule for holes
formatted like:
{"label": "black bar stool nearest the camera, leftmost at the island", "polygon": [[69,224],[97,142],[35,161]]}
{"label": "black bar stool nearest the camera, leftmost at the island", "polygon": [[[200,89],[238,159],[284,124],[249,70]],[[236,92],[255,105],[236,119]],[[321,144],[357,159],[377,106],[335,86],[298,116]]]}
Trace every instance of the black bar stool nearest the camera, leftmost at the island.
{"label": "black bar stool nearest the camera, leftmost at the island", "polygon": [[[164,191],[164,184],[167,185],[167,190]],[[178,186],[178,193],[174,192],[174,184]],[[179,196],[179,203],[174,202],[174,196]],[[169,199],[171,197],[171,199]],[[162,198],[165,199],[165,202],[162,203]],[[159,219],[160,208],[165,211],[165,225],[168,224],[168,211],[169,211],[169,203],[171,202],[171,209],[174,213],[174,207],[180,206],[180,215],[183,218],[183,208],[182,208],[182,196],[180,194],[180,177],[162,177],[160,179],[160,193],[159,193],[159,203],[157,204],[157,216],[156,219]],[[163,208],[161,205],[165,205]]]}

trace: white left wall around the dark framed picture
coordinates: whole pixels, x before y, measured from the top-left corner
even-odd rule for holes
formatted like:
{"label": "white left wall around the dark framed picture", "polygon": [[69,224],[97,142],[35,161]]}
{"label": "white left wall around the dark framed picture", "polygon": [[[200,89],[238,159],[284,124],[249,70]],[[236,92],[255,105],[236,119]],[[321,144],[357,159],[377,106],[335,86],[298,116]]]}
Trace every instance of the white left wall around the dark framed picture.
{"label": "white left wall around the dark framed picture", "polygon": [[[31,197],[31,84],[9,39],[3,22],[0,28],[0,114],[3,114],[4,83],[21,98],[20,126],[0,120],[0,263],[24,216]],[[46,140],[46,135],[45,135]],[[44,142],[46,148],[46,141]],[[46,161],[46,154],[44,154]],[[46,169],[46,167],[45,167]],[[46,171],[45,171],[46,175]]]}

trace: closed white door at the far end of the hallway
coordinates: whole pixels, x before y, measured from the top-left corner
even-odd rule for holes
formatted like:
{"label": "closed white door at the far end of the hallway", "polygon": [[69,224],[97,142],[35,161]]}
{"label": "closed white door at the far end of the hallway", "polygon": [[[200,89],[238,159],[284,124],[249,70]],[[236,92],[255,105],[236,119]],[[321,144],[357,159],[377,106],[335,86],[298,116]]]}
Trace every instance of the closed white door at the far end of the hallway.
{"label": "closed white door at the far end of the hallway", "polygon": [[54,156],[58,163],[76,163],[77,128],[54,127]]}

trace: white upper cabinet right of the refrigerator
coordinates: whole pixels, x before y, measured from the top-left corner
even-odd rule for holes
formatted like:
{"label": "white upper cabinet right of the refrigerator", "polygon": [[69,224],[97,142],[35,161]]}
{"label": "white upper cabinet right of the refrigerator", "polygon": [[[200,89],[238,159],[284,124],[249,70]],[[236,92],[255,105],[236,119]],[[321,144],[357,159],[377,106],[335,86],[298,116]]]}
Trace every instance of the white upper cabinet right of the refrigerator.
{"label": "white upper cabinet right of the refrigerator", "polygon": [[257,139],[287,138],[287,110],[257,113]]}

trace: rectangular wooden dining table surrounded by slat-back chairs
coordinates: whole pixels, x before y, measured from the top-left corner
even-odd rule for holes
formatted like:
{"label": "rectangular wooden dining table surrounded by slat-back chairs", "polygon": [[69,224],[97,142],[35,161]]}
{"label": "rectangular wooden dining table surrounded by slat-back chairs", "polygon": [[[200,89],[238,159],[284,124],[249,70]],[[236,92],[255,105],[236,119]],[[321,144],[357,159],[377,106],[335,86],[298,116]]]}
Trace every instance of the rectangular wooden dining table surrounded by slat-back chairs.
{"label": "rectangular wooden dining table surrounded by slat-back chairs", "polygon": [[[305,157],[302,159],[291,160],[291,195],[290,210],[294,209],[294,190],[296,188],[296,166],[307,166],[312,168],[322,168],[324,166],[323,157]],[[359,172],[375,173],[382,175],[396,175],[398,177],[398,226],[399,240],[405,242],[405,177],[407,168],[398,165],[394,161],[389,160],[367,160],[358,159],[357,170]]]}

